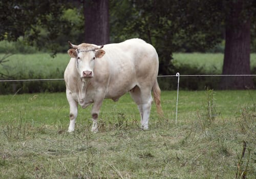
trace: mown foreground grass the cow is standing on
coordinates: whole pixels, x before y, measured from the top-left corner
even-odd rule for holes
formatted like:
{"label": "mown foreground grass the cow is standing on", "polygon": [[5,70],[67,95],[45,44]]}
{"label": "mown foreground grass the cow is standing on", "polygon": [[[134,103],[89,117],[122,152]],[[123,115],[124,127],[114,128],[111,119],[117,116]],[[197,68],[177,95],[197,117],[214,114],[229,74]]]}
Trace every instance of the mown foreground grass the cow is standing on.
{"label": "mown foreground grass the cow is standing on", "polygon": [[105,100],[96,134],[91,107],[67,132],[65,93],[0,96],[0,178],[255,178],[256,91],[180,91],[177,124],[176,95],[148,131],[129,95]]}

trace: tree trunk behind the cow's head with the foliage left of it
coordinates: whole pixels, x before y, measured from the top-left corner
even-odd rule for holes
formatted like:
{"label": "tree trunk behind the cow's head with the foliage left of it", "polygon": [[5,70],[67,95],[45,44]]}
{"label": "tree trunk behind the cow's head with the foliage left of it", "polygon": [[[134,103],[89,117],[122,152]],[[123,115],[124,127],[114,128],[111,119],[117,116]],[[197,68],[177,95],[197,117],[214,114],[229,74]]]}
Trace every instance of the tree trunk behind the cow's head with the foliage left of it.
{"label": "tree trunk behind the cow's head with the foliage left of it", "polygon": [[[79,16],[81,7],[85,20]],[[68,40],[109,43],[108,0],[3,0],[0,2],[0,19],[0,40],[16,41],[23,37],[27,44],[49,49],[54,54],[61,52]],[[81,33],[81,27],[86,33]],[[83,37],[78,39],[81,34]]]}

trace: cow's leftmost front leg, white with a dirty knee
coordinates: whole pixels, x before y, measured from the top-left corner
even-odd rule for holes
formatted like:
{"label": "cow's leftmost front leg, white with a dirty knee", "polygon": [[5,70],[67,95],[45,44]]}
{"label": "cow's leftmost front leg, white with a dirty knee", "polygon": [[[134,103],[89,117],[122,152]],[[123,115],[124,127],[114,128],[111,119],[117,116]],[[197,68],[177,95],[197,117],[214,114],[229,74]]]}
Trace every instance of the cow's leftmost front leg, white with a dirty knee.
{"label": "cow's leftmost front leg, white with a dirty knee", "polygon": [[75,130],[75,123],[76,123],[76,118],[78,114],[77,102],[72,98],[71,94],[68,91],[66,92],[66,94],[67,94],[67,99],[70,106],[70,113],[69,113],[70,123],[69,123],[68,132],[73,132]]}

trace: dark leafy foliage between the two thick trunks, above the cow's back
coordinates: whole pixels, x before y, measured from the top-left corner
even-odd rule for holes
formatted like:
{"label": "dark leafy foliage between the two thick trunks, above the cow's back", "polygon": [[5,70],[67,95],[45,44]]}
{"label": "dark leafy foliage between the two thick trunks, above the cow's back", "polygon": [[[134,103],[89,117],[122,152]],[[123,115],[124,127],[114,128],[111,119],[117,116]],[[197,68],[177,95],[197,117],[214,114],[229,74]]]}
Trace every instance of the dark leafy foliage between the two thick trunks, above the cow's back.
{"label": "dark leafy foliage between the two thick trunks, above the cow's back", "polygon": [[[113,1],[111,31],[118,41],[130,36],[152,43],[159,54],[160,74],[167,75],[174,69],[171,63],[173,52],[205,52],[221,41],[222,17],[215,3]],[[119,10],[119,7],[126,8]],[[120,20],[123,18],[125,21]]]}

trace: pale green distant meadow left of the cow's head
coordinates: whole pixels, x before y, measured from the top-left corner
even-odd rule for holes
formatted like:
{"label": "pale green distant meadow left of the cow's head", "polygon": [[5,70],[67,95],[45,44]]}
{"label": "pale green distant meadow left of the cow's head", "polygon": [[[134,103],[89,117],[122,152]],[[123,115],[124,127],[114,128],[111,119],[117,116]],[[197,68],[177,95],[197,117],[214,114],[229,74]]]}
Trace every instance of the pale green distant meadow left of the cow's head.
{"label": "pale green distant meadow left of the cow's head", "polygon": [[[3,57],[3,54],[0,57]],[[63,78],[63,73],[70,60],[67,54],[57,54],[52,58],[47,53],[14,54],[8,62],[0,66],[0,71],[18,79]]]}

